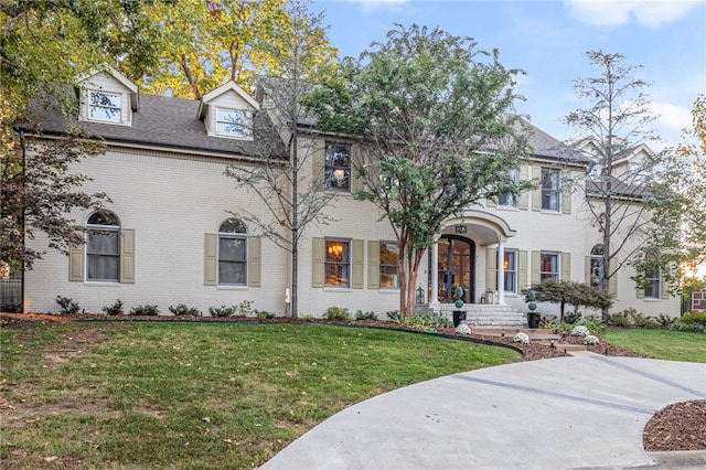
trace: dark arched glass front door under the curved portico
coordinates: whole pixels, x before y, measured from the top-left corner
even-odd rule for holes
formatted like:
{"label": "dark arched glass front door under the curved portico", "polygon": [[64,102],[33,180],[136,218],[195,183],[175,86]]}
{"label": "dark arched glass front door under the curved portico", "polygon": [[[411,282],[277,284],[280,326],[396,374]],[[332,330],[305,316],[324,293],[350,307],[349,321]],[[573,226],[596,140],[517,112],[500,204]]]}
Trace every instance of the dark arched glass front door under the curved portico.
{"label": "dark arched glass front door under the curved portico", "polygon": [[442,235],[439,239],[439,302],[453,303],[453,290],[463,288],[463,302],[473,303],[475,244],[454,235]]}

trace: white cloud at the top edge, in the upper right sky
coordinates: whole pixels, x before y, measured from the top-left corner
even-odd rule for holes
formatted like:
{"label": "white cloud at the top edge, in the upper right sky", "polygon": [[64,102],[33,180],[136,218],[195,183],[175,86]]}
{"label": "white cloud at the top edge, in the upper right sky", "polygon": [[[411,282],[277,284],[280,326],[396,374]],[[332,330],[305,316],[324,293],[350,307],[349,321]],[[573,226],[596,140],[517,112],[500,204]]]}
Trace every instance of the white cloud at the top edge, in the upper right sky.
{"label": "white cloud at the top edge, in the upper right sky", "polygon": [[614,1],[614,0],[566,0],[569,17],[593,26],[619,26],[637,21],[657,29],[678,21],[699,6],[699,1]]}

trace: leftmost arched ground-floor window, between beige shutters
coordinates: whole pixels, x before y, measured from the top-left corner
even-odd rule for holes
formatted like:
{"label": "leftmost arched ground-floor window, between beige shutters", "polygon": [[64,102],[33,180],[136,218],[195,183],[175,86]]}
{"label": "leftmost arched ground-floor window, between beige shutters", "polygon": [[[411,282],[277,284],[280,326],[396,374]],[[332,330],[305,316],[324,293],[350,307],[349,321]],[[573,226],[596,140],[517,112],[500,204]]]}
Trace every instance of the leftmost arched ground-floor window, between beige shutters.
{"label": "leftmost arched ground-floor window, between beige shutters", "polygon": [[120,221],[110,211],[94,212],[86,224],[86,280],[120,280]]}

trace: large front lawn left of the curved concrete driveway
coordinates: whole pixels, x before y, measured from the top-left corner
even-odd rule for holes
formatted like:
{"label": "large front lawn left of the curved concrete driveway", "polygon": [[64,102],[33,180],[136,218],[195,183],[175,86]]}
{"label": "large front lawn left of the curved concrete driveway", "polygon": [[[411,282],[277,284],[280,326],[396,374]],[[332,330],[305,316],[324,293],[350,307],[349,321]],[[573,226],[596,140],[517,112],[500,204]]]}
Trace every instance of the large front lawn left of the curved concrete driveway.
{"label": "large front lawn left of the curved concrete driveway", "polygon": [[12,416],[0,460],[13,469],[253,468],[351,404],[520,360],[317,324],[61,322],[0,340],[0,405]]}

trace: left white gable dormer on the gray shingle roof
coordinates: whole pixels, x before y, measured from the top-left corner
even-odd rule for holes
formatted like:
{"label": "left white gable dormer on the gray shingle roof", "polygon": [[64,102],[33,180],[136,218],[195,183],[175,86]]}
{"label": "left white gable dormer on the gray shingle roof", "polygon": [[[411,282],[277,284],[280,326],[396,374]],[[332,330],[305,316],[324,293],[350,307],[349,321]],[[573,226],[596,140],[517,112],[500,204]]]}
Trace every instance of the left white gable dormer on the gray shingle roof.
{"label": "left white gable dormer on the gray shingle roof", "polygon": [[138,110],[138,89],[125,75],[107,65],[76,79],[81,109],[78,119],[92,122],[132,125]]}

